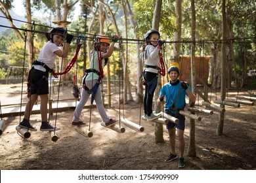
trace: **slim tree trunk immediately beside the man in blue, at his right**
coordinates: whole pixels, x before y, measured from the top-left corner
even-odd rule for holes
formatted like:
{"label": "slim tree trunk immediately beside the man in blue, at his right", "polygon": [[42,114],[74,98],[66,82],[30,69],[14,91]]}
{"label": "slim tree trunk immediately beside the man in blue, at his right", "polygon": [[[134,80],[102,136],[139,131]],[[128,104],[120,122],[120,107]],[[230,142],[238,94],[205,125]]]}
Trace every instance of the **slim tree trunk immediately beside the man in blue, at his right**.
{"label": "slim tree trunk immediately beside the man in blue, at his right", "polygon": [[[192,86],[192,92],[196,93],[196,84],[195,77],[196,76],[196,66],[195,66],[195,47],[196,43],[196,11],[195,11],[195,2],[191,0],[191,14],[192,14],[192,24],[191,24],[191,60],[190,60],[190,86]],[[191,106],[190,106],[191,107]],[[195,138],[195,120],[190,119],[190,133],[189,133],[189,141],[188,141],[188,156],[196,157],[196,138]]]}

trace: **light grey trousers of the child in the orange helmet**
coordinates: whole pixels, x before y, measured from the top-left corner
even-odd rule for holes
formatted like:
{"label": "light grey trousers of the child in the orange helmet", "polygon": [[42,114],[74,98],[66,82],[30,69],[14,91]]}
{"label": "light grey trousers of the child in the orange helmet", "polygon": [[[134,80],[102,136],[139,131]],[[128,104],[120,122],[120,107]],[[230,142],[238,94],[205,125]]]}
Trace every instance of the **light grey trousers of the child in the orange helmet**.
{"label": "light grey trousers of the child in the orange helmet", "polygon": [[[97,80],[85,80],[85,85],[89,88],[89,90],[91,90],[91,88],[96,84],[96,82],[97,82]],[[85,103],[87,103],[87,100],[89,99],[90,95],[91,94],[89,94],[85,89],[82,88],[81,99],[80,99],[77,107],[75,107],[73,122],[79,122],[79,117],[81,115],[83,107],[85,106]],[[91,101],[90,101],[90,103],[91,103]],[[95,95],[95,103],[96,103],[98,113],[100,114],[100,116],[102,118],[102,121],[104,123],[109,122],[110,118],[106,114],[106,110],[105,110],[103,102],[102,102],[100,86],[98,86],[98,90]]]}

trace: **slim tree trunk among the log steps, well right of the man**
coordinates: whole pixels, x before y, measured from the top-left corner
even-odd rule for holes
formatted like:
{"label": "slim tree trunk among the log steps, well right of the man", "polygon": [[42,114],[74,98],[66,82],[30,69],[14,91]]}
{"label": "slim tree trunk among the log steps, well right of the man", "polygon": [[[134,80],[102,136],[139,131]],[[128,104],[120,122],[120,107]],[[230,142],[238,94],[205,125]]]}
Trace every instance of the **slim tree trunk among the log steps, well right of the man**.
{"label": "slim tree trunk among the log steps, well right of the man", "polygon": [[[221,101],[225,99],[225,90],[226,90],[226,1],[222,0],[222,18],[223,18],[223,44],[221,44]],[[221,107],[225,106],[221,104]],[[224,126],[224,112],[219,113],[219,122],[217,125],[217,135],[223,135],[223,126]]]}

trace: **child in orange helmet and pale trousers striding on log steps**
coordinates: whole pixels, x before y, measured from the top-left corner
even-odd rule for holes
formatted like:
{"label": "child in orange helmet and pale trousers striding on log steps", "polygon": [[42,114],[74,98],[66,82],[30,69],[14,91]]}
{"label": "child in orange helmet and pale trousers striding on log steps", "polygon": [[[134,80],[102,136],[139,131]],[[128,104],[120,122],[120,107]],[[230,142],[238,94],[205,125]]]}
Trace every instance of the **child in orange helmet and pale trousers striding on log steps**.
{"label": "child in orange helmet and pale trousers striding on log steps", "polygon": [[[115,35],[111,40],[112,43],[110,44],[110,39],[106,37],[106,35],[98,35],[96,37],[95,50],[92,52],[90,69],[85,70],[86,74],[83,77],[81,99],[75,108],[72,125],[85,125],[85,123],[80,120],[79,116],[90,95],[92,95],[91,104],[93,104],[93,101],[95,100],[98,113],[106,126],[114,125],[118,122],[118,120],[109,118],[106,114],[102,102],[101,90],[98,88],[100,80],[103,78],[102,68],[106,65],[106,60],[112,56],[114,45],[118,41],[118,37]],[[102,59],[105,59],[105,61],[102,61]]]}

